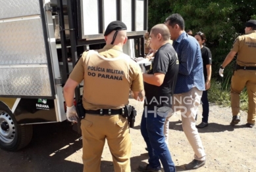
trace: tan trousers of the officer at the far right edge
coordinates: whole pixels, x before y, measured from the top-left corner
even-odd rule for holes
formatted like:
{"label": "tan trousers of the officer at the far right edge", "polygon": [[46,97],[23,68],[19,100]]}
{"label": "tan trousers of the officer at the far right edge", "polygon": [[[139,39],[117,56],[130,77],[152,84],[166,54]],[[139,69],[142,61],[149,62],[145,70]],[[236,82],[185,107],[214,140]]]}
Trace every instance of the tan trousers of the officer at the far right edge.
{"label": "tan trousers of the officer at the far right edge", "polygon": [[231,79],[231,108],[233,116],[240,116],[240,93],[246,86],[248,93],[247,123],[255,123],[256,118],[256,71],[236,70]]}

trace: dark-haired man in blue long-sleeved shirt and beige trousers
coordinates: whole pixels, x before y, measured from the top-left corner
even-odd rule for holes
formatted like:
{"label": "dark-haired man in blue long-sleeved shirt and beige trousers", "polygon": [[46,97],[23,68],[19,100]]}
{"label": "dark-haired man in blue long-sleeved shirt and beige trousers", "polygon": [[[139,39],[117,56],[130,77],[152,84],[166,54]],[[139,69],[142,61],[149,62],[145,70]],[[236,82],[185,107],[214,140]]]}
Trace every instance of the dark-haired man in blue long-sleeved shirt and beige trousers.
{"label": "dark-haired man in blue long-sleeved shirt and beige trousers", "polygon": [[174,111],[181,112],[183,131],[195,152],[195,159],[185,167],[197,169],[205,165],[205,150],[195,127],[195,115],[205,90],[201,48],[197,40],[184,31],[185,22],[180,14],[170,15],[165,24],[174,41],[172,45],[180,63],[174,91]]}

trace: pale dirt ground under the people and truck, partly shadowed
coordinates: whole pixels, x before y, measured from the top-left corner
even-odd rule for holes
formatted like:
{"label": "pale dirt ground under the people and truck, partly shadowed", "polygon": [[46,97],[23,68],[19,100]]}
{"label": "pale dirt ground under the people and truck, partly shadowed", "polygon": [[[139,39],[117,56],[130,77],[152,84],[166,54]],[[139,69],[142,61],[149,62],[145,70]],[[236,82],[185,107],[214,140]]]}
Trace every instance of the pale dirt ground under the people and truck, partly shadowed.
{"label": "pale dirt ground under the people and truck, partly shadowed", "polygon": [[[134,100],[130,101],[135,104]],[[145,142],[140,134],[142,104],[136,104],[138,116],[132,135],[132,171],[147,162]],[[200,112],[200,110],[199,110]],[[199,113],[200,114],[200,113]],[[204,167],[194,171],[256,171],[256,129],[245,127],[247,115],[242,112],[238,126],[229,125],[230,108],[211,105],[209,126],[199,129],[207,153]],[[184,164],[193,160],[193,150],[188,143],[179,116],[170,119],[169,148],[177,171],[185,171]],[[201,118],[197,119],[197,123]],[[93,146],[93,145],[92,145]],[[34,125],[32,142],[19,152],[0,150],[0,171],[64,172],[82,171],[82,140],[68,123]],[[101,163],[102,172],[113,171],[111,154],[105,145]],[[93,172],[93,171],[92,171]]]}

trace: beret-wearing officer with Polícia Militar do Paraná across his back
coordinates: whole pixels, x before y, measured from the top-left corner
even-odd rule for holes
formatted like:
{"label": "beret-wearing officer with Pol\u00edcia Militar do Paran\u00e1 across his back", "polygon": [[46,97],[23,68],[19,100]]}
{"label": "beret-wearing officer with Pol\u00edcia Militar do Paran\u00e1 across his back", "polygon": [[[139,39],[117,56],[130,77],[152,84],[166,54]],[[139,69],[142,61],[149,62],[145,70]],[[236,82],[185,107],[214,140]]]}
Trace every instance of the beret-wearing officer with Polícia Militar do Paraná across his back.
{"label": "beret-wearing officer with Pol\u00edcia Militar do Paran\u00e1 across his back", "polygon": [[140,101],[145,93],[140,66],[122,53],[126,30],[123,22],[111,22],[104,34],[105,47],[84,52],[64,85],[66,116],[69,121],[76,121],[74,89],[84,80],[86,116],[81,120],[84,172],[100,171],[105,139],[115,171],[131,171],[131,139],[128,121],[121,116],[122,108],[128,104],[130,90]]}

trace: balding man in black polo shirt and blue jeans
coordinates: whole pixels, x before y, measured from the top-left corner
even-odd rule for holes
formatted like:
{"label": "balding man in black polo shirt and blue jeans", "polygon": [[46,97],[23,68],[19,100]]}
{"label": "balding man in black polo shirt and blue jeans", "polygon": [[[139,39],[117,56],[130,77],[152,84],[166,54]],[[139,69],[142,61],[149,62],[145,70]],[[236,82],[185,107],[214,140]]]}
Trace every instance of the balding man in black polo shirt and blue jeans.
{"label": "balding man in black polo shirt and blue jeans", "polygon": [[[172,95],[178,75],[178,58],[169,43],[170,33],[164,24],[157,24],[149,36],[151,48],[157,50],[148,74],[143,74],[145,102],[141,119],[141,135],[149,152],[149,164],[140,171],[175,171],[163,127],[166,116],[172,114]],[[161,160],[161,163],[159,161]]]}

